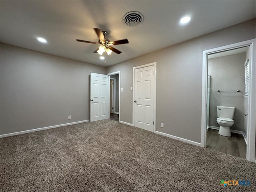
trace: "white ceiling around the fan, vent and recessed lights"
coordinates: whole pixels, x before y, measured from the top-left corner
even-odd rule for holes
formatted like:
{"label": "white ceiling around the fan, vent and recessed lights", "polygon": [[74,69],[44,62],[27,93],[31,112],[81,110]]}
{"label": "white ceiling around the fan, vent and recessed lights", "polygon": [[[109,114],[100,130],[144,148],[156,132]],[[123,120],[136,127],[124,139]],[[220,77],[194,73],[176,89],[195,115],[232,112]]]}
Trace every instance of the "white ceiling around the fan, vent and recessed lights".
{"label": "white ceiling around the fan, vent and recessed lights", "polygon": [[[144,22],[123,24],[124,14],[139,11]],[[179,24],[190,15],[187,25]],[[0,0],[0,42],[83,62],[110,66],[161,48],[255,18],[255,0]],[[122,51],[106,56],[93,53],[93,28],[108,31]],[[37,41],[46,38],[47,44]]]}

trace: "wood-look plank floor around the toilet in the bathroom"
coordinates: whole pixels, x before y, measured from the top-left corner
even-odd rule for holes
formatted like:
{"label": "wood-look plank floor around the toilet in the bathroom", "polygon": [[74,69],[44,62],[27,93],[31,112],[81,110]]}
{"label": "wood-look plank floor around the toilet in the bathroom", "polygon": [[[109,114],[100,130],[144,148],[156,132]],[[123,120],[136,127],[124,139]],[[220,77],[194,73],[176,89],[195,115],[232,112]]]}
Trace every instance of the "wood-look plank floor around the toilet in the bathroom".
{"label": "wood-look plank floor around the toilet in the bathroom", "polygon": [[231,137],[218,134],[218,130],[207,131],[206,147],[246,159],[246,143],[241,134],[231,133]]}

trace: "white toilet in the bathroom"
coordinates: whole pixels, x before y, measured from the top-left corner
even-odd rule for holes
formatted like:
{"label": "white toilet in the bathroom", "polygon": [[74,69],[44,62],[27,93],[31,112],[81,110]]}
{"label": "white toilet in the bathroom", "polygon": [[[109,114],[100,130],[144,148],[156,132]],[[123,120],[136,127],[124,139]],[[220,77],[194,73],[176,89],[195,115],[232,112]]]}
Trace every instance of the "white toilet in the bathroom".
{"label": "white toilet in the bathroom", "polygon": [[234,125],[234,107],[217,106],[217,123],[220,125],[219,135],[231,137],[230,127]]}

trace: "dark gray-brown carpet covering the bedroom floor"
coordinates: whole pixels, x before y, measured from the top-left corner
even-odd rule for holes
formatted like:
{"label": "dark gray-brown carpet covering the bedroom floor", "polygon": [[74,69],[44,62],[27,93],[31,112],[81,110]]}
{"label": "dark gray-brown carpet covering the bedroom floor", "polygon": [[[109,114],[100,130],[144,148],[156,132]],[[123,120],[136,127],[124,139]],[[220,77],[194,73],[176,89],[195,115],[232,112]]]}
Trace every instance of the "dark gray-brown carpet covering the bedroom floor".
{"label": "dark gray-brown carpet covering the bedroom floor", "polygon": [[113,120],[1,138],[0,158],[0,191],[255,191],[254,163]]}

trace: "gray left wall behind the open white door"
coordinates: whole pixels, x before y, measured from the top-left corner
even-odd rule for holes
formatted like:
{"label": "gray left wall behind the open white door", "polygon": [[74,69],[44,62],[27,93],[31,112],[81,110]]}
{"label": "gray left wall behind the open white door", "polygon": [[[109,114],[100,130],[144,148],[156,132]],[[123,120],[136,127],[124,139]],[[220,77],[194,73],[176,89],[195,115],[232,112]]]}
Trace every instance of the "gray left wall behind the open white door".
{"label": "gray left wall behind the open white door", "polygon": [[90,119],[90,72],[106,74],[101,66],[7,44],[0,44],[0,69],[0,134]]}

